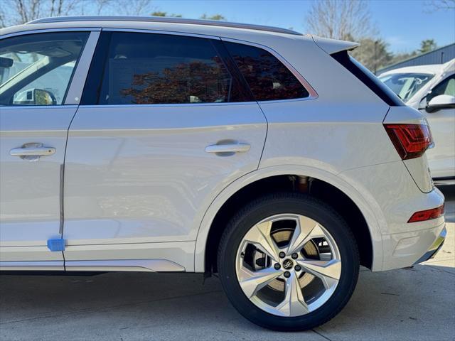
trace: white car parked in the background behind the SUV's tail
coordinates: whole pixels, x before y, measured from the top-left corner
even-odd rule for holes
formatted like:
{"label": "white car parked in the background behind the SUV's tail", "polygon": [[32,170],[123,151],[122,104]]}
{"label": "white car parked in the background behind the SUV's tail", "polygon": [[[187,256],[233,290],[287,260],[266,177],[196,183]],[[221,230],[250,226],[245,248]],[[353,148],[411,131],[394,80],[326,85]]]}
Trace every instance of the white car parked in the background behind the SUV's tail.
{"label": "white car parked in the background behind the SUV's tail", "polygon": [[455,184],[455,59],[401,67],[379,79],[427,117],[435,144],[427,151],[432,177],[437,184]]}

